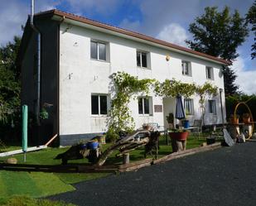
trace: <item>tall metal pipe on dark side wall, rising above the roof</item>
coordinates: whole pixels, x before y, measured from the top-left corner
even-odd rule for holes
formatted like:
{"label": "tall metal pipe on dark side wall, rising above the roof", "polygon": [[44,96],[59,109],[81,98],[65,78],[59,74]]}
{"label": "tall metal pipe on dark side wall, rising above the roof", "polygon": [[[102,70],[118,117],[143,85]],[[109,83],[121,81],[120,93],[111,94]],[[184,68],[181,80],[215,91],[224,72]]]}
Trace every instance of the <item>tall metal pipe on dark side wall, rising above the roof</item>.
{"label": "tall metal pipe on dark side wall, rising above the roof", "polygon": [[40,95],[41,95],[41,33],[34,25],[35,1],[31,0],[31,28],[37,33],[37,97],[36,97],[36,123],[40,125]]}

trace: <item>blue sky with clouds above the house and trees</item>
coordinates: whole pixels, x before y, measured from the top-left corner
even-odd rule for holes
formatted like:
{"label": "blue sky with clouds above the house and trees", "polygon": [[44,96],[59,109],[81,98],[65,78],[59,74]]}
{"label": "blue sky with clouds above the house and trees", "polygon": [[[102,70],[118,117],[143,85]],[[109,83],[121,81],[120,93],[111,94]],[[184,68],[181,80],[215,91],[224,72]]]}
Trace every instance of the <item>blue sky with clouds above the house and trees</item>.
{"label": "blue sky with clouds above the house and trees", "polygon": [[[89,17],[95,21],[138,31],[147,36],[186,46],[192,38],[189,24],[204,13],[205,7],[225,6],[244,16],[254,0],[35,0],[36,12],[57,8],[64,12]],[[30,0],[0,0],[0,45],[13,36],[22,36],[22,25],[30,13]],[[251,60],[253,34],[239,46],[239,57],[233,63],[236,84],[244,93],[256,94],[256,60]]]}

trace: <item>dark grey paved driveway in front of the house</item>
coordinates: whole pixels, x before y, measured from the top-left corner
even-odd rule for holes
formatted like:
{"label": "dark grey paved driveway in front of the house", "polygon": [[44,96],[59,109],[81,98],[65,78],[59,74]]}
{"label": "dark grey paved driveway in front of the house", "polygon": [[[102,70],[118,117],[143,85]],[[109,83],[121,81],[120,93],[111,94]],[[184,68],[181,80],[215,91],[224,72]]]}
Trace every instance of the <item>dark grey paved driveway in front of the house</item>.
{"label": "dark grey paved driveway in front of the house", "polygon": [[256,142],[75,184],[51,199],[77,205],[255,206]]}

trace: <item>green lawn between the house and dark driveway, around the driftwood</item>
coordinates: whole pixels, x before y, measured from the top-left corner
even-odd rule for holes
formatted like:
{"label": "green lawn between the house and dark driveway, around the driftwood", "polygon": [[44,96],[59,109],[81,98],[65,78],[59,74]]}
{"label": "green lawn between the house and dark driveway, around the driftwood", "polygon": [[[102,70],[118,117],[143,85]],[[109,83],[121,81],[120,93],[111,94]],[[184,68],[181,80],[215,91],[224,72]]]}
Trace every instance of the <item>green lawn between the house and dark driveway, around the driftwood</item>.
{"label": "green lawn between the house and dark driveway, around the driftwood", "polygon": [[[196,137],[189,137],[187,140],[187,149],[200,146],[205,139],[198,140]],[[110,144],[103,146],[105,150]],[[165,137],[161,137],[159,141],[159,157],[166,156],[171,153],[171,146],[166,145]],[[20,149],[17,147],[12,147]],[[61,160],[54,160],[54,157],[61,152],[68,149],[65,148],[47,148],[41,151],[34,151],[27,153],[26,164],[38,165],[60,165]],[[10,148],[7,148],[9,151]],[[144,157],[144,149],[138,148],[130,153],[130,160],[142,160]],[[115,154],[109,157],[106,164],[122,163],[122,157],[115,157]],[[23,162],[23,155],[13,156],[17,159],[18,163]],[[147,156],[151,157],[151,156]],[[0,163],[8,157],[0,157]],[[83,160],[70,160],[69,163],[87,163],[87,159]],[[71,184],[80,181],[94,180],[109,175],[108,173],[43,173],[43,172],[25,172],[25,171],[0,171],[0,204],[12,195],[27,195],[32,198],[46,197],[53,194],[60,194],[67,191],[72,191],[75,188]]]}

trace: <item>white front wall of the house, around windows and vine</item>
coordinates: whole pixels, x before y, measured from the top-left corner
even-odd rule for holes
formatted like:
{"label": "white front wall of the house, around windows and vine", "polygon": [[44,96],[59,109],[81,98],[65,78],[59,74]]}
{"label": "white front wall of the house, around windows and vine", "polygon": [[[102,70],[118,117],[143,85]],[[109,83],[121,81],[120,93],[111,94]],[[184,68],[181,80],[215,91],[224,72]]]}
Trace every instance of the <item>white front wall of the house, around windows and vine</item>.
{"label": "white front wall of the house, around windows and vine", "polygon": [[[66,28],[68,28],[66,30]],[[105,41],[109,44],[109,60],[102,62],[90,59],[90,39]],[[151,69],[137,67],[136,50],[150,52]],[[166,55],[171,60],[166,60]],[[181,74],[181,60],[191,61],[192,77]],[[224,88],[223,77],[219,75],[220,65],[181,55],[170,50],[164,50],[136,41],[111,36],[99,31],[92,31],[79,26],[60,25],[60,135],[82,134],[106,131],[107,117],[92,117],[91,93],[114,94],[109,88],[109,75],[117,71],[125,71],[138,75],[139,79],[152,78],[180,79],[185,82],[204,84],[205,65],[214,67],[215,81],[211,81],[219,88]],[[151,93],[152,104],[162,105],[162,98]],[[225,102],[224,102],[225,105]],[[194,100],[195,117],[197,113],[198,98]],[[217,108],[220,108],[217,105]],[[138,101],[132,100],[130,109],[136,123],[141,127],[144,122],[158,122],[164,125],[166,117],[163,113],[154,113],[152,116],[138,115]],[[217,122],[220,122],[220,109],[217,111]],[[207,117],[210,123],[212,115]],[[191,117],[194,118],[194,117]]]}

